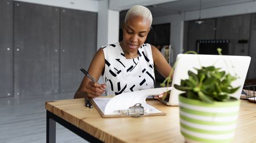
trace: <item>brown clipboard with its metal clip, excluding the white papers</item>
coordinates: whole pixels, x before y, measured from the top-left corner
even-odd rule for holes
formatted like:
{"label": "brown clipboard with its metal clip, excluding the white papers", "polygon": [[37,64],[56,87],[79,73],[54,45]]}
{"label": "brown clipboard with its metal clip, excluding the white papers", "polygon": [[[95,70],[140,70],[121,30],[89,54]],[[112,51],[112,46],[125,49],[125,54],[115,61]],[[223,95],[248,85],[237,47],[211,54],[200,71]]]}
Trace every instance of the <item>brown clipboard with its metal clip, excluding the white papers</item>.
{"label": "brown clipboard with its metal clip, excluding the white papers", "polygon": [[[113,98],[113,97],[114,96],[98,97],[98,98]],[[150,112],[147,112],[146,109],[145,110],[144,109],[143,110],[138,110],[138,108],[143,107],[143,106],[139,106],[139,105],[141,105],[141,103],[137,103],[134,106],[129,107],[130,110],[127,109],[127,111],[120,111],[120,113],[117,114],[117,115],[105,115],[104,112],[102,112],[101,107],[99,107],[97,105],[97,103],[94,102],[93,99],[90,99],[90,101],[92,101],[94,107],[100,113],[102,118],[125,118],[125,117],[135,117],[135,118],[138,118],[138,117],[141,117],[141,116],[164,116],[164,115],[166,115],[166,113],[163,112],[163,111],[158,112],[158,113],[150,113]],[[133,111],[133,112],[129,112],[129,111]]]}

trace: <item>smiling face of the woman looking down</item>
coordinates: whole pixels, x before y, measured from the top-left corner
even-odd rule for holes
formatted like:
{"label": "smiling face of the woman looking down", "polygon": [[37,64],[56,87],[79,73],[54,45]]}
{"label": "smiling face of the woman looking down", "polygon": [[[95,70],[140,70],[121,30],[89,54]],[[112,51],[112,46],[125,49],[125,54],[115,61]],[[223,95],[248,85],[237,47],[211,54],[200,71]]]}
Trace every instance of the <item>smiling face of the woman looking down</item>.
{"label": "smiling face of the woman looking down", "polygon": [[135,53],[146,41],[150,31],[150,22],[141,16],[131,16],[123,26],[123,48],[128,53]]}

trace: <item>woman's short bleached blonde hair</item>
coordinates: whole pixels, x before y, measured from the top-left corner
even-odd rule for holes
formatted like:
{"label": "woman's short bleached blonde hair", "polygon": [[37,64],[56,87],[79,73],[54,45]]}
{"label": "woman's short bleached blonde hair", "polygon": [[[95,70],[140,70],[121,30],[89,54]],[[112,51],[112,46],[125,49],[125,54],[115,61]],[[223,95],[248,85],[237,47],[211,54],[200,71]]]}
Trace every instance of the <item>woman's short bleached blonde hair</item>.
{"label": "woman's short bleached blonde hair", "polygon": [[127,11],[125,16],[125,23],[131,16],[142,16],[143,19],[147,19],[150,21],[150,27],[152,24],[152,14],[150,10],[148,10],[147,7],[136,5],[130,8],[129,11]]}

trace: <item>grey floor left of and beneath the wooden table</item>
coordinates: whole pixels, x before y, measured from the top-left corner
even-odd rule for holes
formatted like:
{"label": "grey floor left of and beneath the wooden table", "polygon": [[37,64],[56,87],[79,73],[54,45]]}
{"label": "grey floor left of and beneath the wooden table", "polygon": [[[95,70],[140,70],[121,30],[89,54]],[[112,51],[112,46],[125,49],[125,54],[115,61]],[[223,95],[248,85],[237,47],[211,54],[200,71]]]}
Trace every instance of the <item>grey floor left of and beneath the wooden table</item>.
{"label": "grey floor left of and beneath the wooden table", "polygon": [[[46,142],[46,101],[72,99],[73,93],[0,99],[0,142]],[[87,142],[56,123],[56,142]]]}

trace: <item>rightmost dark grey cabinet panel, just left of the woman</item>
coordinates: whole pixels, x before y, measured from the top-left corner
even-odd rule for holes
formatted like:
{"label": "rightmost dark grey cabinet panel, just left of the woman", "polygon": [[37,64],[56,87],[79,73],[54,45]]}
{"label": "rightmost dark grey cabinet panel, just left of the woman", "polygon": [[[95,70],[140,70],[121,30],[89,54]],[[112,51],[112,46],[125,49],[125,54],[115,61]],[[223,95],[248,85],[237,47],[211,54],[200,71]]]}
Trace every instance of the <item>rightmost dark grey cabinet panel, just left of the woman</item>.
{"label": "rightmost dark grey cabinet panel, just left of the woman", "polygon": [[60,21],[60,93],[75,93],[96,53],[97,13],[61,8]]}

